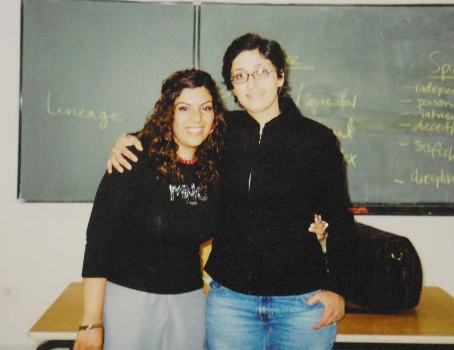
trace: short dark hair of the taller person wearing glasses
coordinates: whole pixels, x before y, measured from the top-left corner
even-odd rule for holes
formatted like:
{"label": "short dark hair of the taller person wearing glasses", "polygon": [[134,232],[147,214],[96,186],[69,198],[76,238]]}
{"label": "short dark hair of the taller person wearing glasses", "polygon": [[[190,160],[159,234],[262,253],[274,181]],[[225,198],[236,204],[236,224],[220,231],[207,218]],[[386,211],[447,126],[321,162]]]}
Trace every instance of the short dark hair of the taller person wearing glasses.
{"label": "short dark hair of the taller person wearing glasses", "polygon": [[[288,87],[286,54],[277,41],[262,38],[254,33],[247,33],[236,38],[227,50],[225,50],[222,65],[222,78],[224,79],[225,86],[228,90],[233,90],[231,70],[234,59],[243,51],[255,49],[258,49],[262,57],[269,59],[276,67],[277,78],[282,78],[282,74],[284,74],[284,83],[279,89],[279,96],[285,96]],[[235,99],[235,101],[237,100]]]}

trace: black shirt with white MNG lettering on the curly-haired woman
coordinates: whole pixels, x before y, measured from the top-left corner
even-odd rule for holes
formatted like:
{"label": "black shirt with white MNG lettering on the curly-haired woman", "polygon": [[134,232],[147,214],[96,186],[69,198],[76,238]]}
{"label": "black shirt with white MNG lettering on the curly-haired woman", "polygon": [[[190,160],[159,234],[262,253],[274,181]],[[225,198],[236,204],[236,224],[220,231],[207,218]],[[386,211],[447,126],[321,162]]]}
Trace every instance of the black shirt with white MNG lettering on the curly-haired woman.
{"label": "black shirt with white MNG lettering on the curly-haired woman", "polygon": [[179,164],[185,180],[169,184],[156,180],[146,151],[138,158],[98,187],[82,276],[158,294],[202,288],[199,245],[217,225],[214,196],[199,187],[197,165]]}

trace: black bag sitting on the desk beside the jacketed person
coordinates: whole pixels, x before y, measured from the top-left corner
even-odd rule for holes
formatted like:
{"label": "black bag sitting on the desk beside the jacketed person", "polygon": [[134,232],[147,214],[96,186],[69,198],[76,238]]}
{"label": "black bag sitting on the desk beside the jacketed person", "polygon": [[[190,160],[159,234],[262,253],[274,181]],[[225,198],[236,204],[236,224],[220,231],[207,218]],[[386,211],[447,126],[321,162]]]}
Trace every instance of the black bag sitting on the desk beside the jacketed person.
{"label": "black bag sitting on the desk beside the jacketed person", "polygon": [[392,313],[416,307],[422,289],[421,261],[406,237],[357,223],[359,280],[348,311]]}

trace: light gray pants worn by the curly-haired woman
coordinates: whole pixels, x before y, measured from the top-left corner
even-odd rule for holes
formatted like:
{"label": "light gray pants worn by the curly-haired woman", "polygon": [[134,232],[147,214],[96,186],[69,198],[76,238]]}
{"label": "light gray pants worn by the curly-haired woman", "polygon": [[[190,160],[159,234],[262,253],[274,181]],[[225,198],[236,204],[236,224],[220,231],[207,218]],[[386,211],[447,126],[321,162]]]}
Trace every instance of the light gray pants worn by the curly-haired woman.
{"label": "light gray pants worn by the curly-haired woman", "polygon": [[202,350],[205,294],[153,294],[107,282],[104,350]]}

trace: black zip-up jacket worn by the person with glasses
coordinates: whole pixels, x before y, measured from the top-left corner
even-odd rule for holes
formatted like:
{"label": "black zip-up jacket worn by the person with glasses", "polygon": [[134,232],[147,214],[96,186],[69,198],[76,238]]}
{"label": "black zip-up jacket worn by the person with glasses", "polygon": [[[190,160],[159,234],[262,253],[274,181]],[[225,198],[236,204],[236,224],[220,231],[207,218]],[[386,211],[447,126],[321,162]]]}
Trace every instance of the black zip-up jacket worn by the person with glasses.
{"label": "black zip-up jacket worn by the person with glasses", "polygon": [[[301,115],[291,99],[260,125],[226,115],[220,165],[222,224],[205,270],[234,291],[262,296],[328,289],[345,295],[356,241],[344,158],[332,130]],[[314,214],[329,223],[326,261]],[[327,267],[329,273],[327,273]]]}

